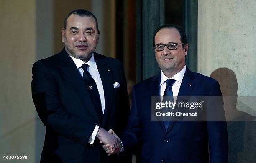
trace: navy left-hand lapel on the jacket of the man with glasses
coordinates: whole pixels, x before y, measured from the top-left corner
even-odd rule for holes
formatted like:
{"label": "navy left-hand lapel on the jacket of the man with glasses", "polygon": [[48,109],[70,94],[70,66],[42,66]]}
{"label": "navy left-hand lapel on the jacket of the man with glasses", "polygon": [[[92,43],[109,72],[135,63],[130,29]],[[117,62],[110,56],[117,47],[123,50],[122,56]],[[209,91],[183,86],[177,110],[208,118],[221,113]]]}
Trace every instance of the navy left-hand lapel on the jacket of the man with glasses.
{"label": "navy left-hand lapel on the jacket of the man with glasses", "polygon": [[[151,80],[152,80],[152,82],[149,85],[150,94],[151,94],[151,96],[158,96],[159,97],[158,100],[160,102],[161,101],[161,99],[160,99],[161,71],[159,72],[158,75],[153,77]],[[153,110],[151,110],[151,111],[153,111]],[[155,109],[154,109],[154,111],[155,111]],[[155,114],[155,113],[153,113],[153,114]],[[160,116],[158,116],[157,119],[158,119],[158,123],[159,123],[160,128],[162,128],[164,131],[166,131],[165,128],[164,128],[164,122],[163,122],[162,118]]]}

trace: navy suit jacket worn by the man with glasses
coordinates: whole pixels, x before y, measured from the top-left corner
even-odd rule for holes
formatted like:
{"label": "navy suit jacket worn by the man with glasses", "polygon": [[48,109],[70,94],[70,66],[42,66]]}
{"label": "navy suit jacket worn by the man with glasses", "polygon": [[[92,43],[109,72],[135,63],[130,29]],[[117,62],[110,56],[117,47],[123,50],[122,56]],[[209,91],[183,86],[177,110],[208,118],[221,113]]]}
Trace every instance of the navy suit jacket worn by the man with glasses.
{"label": "navy suit jacket worn by the man with glasses", "polygon": [[[141,163],[228,162],[228,137],[225,121],[151,121],[151,96],[160,94],[161,72],[133,87],[133,106],[128,128],[121,136],[125,152],[142,143]],[[217,81],[186,70],[179,96],[222,96]],[[222,99],[222,98],[221,98]],[[219,101],[223,111],[223,101]]]}

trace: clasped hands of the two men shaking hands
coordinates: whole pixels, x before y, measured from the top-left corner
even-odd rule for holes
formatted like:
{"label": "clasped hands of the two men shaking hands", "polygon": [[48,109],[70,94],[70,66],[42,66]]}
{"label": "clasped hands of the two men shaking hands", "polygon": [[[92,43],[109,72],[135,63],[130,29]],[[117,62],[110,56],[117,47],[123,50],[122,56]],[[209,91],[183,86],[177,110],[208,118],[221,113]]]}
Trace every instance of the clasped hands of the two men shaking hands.
{"label": "clasped hands of the two men shaking hands", "polygon": [[97,138],[100,140],[100,143],[108,156],[121,151],[121,140],[112,129],[107,132],[105,129],[100,128]]}

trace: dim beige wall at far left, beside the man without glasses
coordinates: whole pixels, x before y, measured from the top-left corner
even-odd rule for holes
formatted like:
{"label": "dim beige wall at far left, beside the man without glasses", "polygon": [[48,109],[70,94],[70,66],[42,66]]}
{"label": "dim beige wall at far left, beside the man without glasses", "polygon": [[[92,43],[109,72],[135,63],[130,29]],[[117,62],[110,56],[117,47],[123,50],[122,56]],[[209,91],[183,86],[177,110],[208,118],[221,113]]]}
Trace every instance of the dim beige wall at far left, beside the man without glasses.
{"label": "dim beige wall at far left, beside the man without glasses", "polygon": [[33,163],[36,114],[30,83],[36,52],[35,0],[0,4],[0,155],[27,155],[27,162]]}

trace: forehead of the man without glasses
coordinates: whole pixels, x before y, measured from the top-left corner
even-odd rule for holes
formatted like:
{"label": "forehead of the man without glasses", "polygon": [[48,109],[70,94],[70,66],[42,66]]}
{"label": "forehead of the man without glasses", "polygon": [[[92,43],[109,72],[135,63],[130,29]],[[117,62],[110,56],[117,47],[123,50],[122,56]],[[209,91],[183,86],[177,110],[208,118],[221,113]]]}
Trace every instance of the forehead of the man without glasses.
{"label": "forehead of the man without glasses", "polygon": [[67,29],[70,27],[92,27],[93,29],[96,29],[96,22],[92,16],[72,14],[67,18]]}

